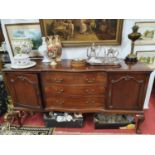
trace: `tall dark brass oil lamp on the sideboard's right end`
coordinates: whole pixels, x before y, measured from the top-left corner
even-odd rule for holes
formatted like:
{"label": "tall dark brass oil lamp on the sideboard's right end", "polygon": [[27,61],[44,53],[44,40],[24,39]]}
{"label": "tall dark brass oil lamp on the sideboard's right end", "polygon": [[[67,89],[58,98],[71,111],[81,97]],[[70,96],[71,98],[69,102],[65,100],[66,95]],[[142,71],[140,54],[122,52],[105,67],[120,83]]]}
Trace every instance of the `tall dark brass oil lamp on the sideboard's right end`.
{"label": "tall dark brass oil lamp on the sideboard's right end", "polygon": [[139,29],[139,27],[137,25],[134,25],[132,27],[133,32],[128,35],[128,38],[132,41],[132,43],[131,43],[131,53],[129,55],[127,55],[127,57],[125,58],[125,62],[127,64],[134,64],[138,61],[137,55],[134,54],[135,41],[141,37],[141,34],[139,32],[137,32],[138,29]]}

